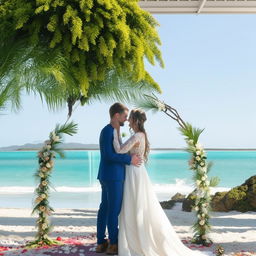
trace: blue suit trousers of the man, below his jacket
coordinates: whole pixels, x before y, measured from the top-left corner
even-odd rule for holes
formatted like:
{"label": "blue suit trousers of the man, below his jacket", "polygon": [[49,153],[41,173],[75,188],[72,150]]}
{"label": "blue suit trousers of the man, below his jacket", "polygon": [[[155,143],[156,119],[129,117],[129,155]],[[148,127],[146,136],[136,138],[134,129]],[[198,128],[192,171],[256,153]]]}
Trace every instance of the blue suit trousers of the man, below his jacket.
{"label": "blue suit trousers of the man, below his jacket", "polygon": [[101,204],[97,217],[97,243],[105,242],[106,227],[110,244],[118,242],[118,215],[123,200],[124,181],[100,181]]}

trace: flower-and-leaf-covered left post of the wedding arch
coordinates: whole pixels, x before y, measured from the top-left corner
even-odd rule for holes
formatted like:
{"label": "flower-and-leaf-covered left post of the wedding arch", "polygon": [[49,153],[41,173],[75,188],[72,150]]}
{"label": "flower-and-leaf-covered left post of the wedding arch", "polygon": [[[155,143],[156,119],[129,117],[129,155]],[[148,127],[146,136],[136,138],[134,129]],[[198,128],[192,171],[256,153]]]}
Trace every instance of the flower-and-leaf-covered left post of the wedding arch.
{"label": "flower-and-leaf-covered left post of the wedding arch", "polygon": [[37,235],[36,240],[28,243],[28,247],[38,247],[44,245],[59,244],[60,242],[49,238],[48,234],[52,230],[52,225],[48,217],[54,212],[53,208],[49,206],[50,195],[50,177],[54,166],[54,158],[58,153],[62,158],[63,152],[57,147],[62,143],[63,134],[73,135],[77,132],[77,125],[74,123],[57,125],[55,130],[50,133],[49,140],[45,141],[44,146],[38,152],[39,168],[35,173],[35,177],[39,180],[39,185],[35,190],[36,198],[34,200],[34,209],[32,214],[37,212],[39,217],[37,219]]}

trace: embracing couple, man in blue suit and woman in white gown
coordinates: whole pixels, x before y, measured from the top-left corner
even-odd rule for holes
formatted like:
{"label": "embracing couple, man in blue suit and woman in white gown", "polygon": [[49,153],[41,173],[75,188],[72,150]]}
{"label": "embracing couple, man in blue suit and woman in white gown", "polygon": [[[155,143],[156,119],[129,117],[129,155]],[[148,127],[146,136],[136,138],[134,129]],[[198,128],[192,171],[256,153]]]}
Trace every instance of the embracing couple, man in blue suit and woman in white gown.
{"label": "embracing couple, man in blue suit and woman in white gown", "polygon": [[145,112],[130,112],[128,121],[134,134],[125,143],[120,126],[127,121],[128,108],[115,103],[109,113],[110,124],[100,134],[98,179],[102,197],[96,252],[120,256],[205,255],[183,245],[158,202],[144,165],[149,153]]}

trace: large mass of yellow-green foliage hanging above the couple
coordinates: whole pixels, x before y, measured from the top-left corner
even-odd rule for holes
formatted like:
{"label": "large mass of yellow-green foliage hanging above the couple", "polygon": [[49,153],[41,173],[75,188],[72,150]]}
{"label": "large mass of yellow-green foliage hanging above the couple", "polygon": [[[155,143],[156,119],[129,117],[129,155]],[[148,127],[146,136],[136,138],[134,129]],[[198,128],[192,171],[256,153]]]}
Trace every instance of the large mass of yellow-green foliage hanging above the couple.
{"label": "large mass of yellow-green foliage hanging above the couple", "polygon": [[[0,58],[0,78],[14,75],[13,66],[7,64],[11,61],[14,67],[22,66],[31,74],[17,79],[16,84],[24,80],[29,89],[38,89],[39,84],[48,84],[50,79],[50,84],[58,82],[54,88],[65,85],[69,114],[74,102],[88,101],[90,91],[113,74],[160,91],[144,67],[145,58],[152,65],[157,60],[163,66],[157,25],[139,7],[138,0],[2,0],[0,54],[6,53],[7,57]],[[53,58],[47,58],[47,54]],[[41,79],[44,74],[48,75],[45,81]],[[5,83],[12,80],[8,79]],[[57,96],[61,90],[50,97],[45,94],[49,90],[39,88],[50,104],[60,103]]]}

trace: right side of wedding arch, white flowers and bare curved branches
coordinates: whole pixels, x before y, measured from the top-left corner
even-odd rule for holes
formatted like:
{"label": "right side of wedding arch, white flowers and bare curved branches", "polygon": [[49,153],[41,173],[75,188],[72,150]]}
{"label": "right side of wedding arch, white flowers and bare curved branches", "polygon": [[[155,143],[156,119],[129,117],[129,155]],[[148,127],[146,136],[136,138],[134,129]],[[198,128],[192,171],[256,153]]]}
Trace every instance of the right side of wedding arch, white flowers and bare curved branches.
{"label": "right side of wedding arch, white flowers and bare curved branches", "polygon": [[219,178],[213,177],[210,181],[208,179],[207,174],[210,171],[212,163],[207,163],[206,152],[202,145],[198,143],[199,136],[203,130],[194,128],[191,124],[184,122],[175,108],[160,101],[154,94],[153,96],[145,95],[145,100],[141,101],[139,105],[144,109],[163,112],[179,124],[179,130],[185,136],[187,142],[186,151],[191,153],[189,166],[194,171],[196,188],[196,200],[193,209],[196,212],[197,221],[193,225],[194,236],[192,242],[206,246],[212,244],[212,241],[207,236],[211,228],[209,224],[210,187],[217,186]]}

